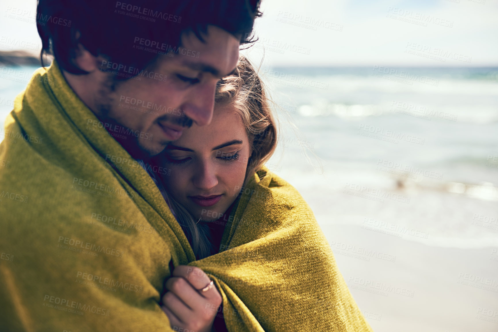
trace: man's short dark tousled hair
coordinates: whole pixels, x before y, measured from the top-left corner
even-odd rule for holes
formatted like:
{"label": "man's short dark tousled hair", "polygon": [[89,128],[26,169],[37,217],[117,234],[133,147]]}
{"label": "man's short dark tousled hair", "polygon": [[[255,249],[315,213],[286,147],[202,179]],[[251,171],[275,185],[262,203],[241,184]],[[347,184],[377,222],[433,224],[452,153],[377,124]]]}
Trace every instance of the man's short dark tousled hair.
{"label": "man's short dark tousled hair", "polygon": [[[36,21],[42,51],[72,74],[86,74],[76,67],[77,45],[94,56],[103,56],[121,68],[144,69],[159,54],[188,52],[181,35],[192,31],[201,38],[208,25],[216,25],[254,41],[252,27],[261,15],[259,0],[38,0]],[[183,54],[183,53],[182,53]],[[126,66],[126,67],[124,67]],[[128,77],[129,78],[129,77]],[[125,79],[117,76],[116,79]]]}

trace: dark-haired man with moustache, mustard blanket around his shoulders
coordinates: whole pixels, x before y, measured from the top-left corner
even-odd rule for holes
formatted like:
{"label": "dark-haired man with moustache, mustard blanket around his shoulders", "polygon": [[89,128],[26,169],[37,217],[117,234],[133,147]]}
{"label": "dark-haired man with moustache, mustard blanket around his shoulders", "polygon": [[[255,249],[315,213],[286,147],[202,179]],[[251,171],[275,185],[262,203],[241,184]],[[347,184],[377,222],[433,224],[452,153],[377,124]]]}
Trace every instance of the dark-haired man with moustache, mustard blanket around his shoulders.
{"label": "dark-haired man with moustache, mustard blanket around his shoulders", "polygon": [[144,168],[211,121],[258,2],[38,1],[55,61],[2,133],[0,331],[171,331],[164,281],[195,258]]}

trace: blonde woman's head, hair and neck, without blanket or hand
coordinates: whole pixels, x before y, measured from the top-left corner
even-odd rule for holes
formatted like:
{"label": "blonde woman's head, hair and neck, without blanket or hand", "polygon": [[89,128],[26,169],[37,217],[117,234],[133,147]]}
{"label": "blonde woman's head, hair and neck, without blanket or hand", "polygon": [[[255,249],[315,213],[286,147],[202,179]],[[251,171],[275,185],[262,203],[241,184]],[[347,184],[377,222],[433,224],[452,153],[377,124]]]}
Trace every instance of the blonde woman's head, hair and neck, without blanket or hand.
{"label": "blonde woman's head, hair and neck, without blanket or hand", "polygon": [[161,179],[168,205],[197,259],[219,251],[222,216],[230,214],[241,188],[276,147],[268,100],[245,57],[236,73],[218,84],[215,103],[211,124],[185,130],[159,161],[171,169]]}

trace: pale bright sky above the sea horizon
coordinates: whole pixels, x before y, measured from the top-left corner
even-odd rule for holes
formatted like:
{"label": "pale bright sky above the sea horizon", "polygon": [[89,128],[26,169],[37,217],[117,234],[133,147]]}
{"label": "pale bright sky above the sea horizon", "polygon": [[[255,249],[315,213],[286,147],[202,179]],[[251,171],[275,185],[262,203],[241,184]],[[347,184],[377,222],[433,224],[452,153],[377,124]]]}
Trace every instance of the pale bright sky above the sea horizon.
{"label": "pale bright sky above the sea horizon", "polygon": [[[498,66],[498,0],[262,0],[259,41],[272,66]],[[12,14],[21,12],[23,14]],[[35,0],[1,0],[0,50],[38,52]],[[23,47],[19,47],[21,45]]]}

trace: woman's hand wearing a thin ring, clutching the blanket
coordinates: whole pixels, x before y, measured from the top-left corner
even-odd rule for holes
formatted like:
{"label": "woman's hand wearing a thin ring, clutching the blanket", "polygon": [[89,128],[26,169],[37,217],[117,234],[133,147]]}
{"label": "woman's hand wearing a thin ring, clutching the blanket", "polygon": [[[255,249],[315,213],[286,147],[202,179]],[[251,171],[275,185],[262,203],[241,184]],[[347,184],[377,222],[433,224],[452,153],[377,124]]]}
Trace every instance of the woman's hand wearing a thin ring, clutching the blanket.
{"label": "woman's hand wearing a thin ring, clutching the blanket", "polygon": [[161,306],[171,328],[211,331],[222,303],[220,293],[211,282],[206,273],[195,266],[178,265],[173,270],[173,276],[166,281],[168,292],[162,297]]}

